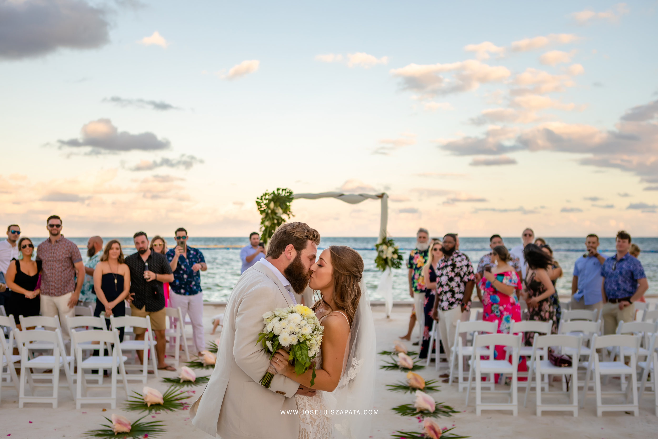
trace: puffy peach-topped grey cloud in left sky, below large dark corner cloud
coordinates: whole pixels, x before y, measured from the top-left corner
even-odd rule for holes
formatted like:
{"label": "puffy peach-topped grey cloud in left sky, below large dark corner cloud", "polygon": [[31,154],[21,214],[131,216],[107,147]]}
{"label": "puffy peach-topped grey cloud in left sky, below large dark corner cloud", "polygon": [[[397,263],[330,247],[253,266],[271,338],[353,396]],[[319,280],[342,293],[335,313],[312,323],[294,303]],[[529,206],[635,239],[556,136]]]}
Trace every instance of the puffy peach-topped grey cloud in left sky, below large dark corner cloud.
{"label": "puffy peach-topped grey cloud in left sky, below large dark corner cloud", "polygon": [[80,130],[80,139],[58,140],[60,146],[91,147],[90,154],[119,151],[157,151],[168,149],[168,140],[158,139],[151,132],[130,134],[119,132],[109,119],[101,118],[84,124]]}

